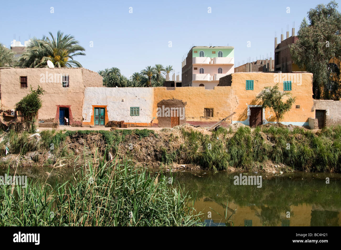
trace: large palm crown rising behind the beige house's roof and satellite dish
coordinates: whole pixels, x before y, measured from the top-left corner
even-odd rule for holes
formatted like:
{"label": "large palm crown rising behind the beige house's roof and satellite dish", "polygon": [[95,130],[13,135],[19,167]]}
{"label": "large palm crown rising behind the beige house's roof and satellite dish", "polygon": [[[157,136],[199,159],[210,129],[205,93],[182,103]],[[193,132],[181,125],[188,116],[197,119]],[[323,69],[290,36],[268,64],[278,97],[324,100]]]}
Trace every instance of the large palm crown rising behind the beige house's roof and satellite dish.
{"label": "large palm crown rising behind the beige house's roof and satellite dish", "polygon": [[85,56],[85,48],[79,45],[74,36],[64,35],[58,30],[55,37],[49,32],[51,38],[43,36],[42,39],[33,38],[27,48],[18,60],[20,68],[47,68],[47,61],[53,62],[56,68],[82,67],[74,60],[76,56]]}

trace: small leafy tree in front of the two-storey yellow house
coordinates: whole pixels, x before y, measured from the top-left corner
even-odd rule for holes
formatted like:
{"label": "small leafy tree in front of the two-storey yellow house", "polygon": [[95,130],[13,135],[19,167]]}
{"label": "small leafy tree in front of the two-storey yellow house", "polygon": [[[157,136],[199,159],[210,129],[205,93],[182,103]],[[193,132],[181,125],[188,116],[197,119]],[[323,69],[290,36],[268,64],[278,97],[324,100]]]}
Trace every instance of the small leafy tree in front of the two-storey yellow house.
{"label": "small leafy tree in front of the two-storey yellow house", "polygon": [[[283,101],[283,98],[286,101]],[[275,112],[276,123],[283,118],[295,103],[296,97],[292,98],[289,92],[280,91],[278,84],[276,86],[265,87],[256,97],[256,100],[261,100],[263,108],[270,108]]]}

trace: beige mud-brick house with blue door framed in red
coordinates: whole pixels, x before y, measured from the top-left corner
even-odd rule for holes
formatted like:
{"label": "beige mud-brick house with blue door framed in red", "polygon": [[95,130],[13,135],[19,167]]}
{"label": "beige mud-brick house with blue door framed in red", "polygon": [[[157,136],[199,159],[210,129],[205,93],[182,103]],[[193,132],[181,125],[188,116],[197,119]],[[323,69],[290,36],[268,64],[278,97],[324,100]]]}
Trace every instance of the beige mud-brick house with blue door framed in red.
{"label": "beige mud-brick house with blue door framed in red", "polygon": [[31,86],[37,89],[38,85],[45,90],[38,113],[39,121],[44,122],[39,127],[52,127],[54,120],[64,125],[64,116],[71,126],[81,126],[84,90],[103,86],[103,80],[97,72],[84,68],[1,68],[1,106],[14,108]]}

